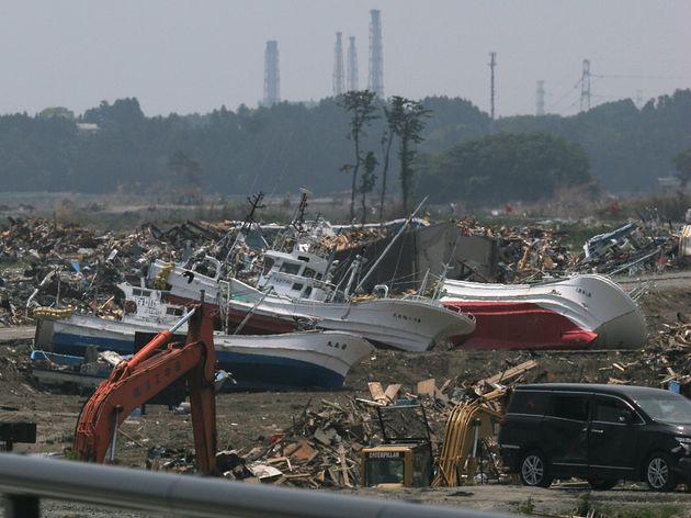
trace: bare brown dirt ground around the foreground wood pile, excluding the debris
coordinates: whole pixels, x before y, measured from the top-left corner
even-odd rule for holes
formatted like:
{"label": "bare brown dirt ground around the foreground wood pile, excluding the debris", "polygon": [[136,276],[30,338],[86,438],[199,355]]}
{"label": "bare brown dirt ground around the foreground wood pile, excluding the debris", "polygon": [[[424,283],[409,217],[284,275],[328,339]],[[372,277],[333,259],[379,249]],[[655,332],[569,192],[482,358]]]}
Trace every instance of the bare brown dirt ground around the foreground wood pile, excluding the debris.
{"label": "bare brown dirt ground around the foreground wood pile, excluding the debris", "polygon": [[[652,286],[641,300],[650,334],[664,323],[691,317],[689,278]],[[626,286],[630,289],[630,286]],[[21,337],[20,337],[21,338]],[[35,444],[16,444],[22,453],[61,453],[69,447],[75,426],[86,397],[53,393],[37,385],[27,369],[31,340],[18,339],[0,330],[0,420],[33,420],[37,424]],[[268,437],[293,423],[306,405],[321,401],[346,404],[354,397],[370,398],[369,381],[401,383],[404,392],[412,392],[417,382],[435,378],[438,385],[452,380],[458,385],[473,382],[533,358],[539,367],[524,375],[525,382],[607,382],[610,378],[658,386],[659,365],[638,362],[622,373],[612,364],[628,364],[641,359],[642,351],[495,351],[435,350],[427,353],[377,351],[352,369],[346,387],[339,392],[230,393],[217,397],[218,448],[247,452],[265,444]],[[438,427],[442,425],[435,425]],[[168,410],[165,406],[147,406],[146,415],[129,418],[121,427],[117,458],[121,464],[144,466],[147,450],[161,446],[170,450],[191,448],[192,427],[189,416]],[[442,435],[442,429],[435,430]],[[475,508],[502,513],[542,514],[550,516],[585,516],[584,508],[599,509],[668,509],[667,516],[691,516],[691,494],[655,494],[643,485],[622,484],[610,492],[590,492],[587,484],[563,483],[550,489],[520,485],[472,485],[444,489],[410,489],[383,492],[375,489],[341,489],[340,493],[361,496],[403,498],[409,502]],[[146,516],[129,511],[110,511],[63,502],[46,502],[44,516]],[[587,509],[586,509],[587,510]],[[610,511],[611,513],[611,511]],[[1,513],[0,513],[0,516]],[[610,515],[611,516],[611,515]]]}

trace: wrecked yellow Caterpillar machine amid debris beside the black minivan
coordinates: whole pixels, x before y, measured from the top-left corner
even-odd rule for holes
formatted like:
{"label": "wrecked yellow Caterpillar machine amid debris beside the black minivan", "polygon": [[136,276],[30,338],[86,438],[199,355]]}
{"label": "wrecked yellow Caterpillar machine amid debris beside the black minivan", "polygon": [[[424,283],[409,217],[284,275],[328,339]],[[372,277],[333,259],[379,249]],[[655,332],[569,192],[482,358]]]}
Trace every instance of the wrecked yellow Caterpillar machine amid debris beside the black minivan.
{"label": "wrecked yellow Caterpillar machine amid debris beside the black minivan", "polygon": [[446,421],[439,458],[433,457],[424,408],[420,405],[377,407],[381,444],[363,448],[361,481],[365,487],[450,487],[472,478],[478,466],[480,441],[495,435],[501,418],[497,388],[458,403]]}

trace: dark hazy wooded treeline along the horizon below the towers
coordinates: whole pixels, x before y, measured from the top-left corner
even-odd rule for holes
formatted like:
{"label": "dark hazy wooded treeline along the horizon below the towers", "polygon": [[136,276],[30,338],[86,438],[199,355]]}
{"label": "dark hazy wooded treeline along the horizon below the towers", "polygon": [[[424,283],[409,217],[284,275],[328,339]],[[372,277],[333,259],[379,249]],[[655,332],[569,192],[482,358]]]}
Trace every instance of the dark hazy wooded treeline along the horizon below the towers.
{"label": "dark hazy wooded treeline along the horizon below the towers", "polygon": [[[492,137],[488,115],[465,100],[421,104],[430,116],[416,145],[414,185],[431,201],[540,198],[590,176],[610,191],[648,191],[691,147],[690,90],[641,110],[626,100],[571,117],[506,117]],[[350,115],[335,99],[165,117],[147,117],[136,99],[122,99],[77,117],[64,109],[0,116],[0,178],[3,191],[182,198],[350,191],[349,131]],[[362,149],[381,156],[385,133],[385,117],[372,121]],[[396,192],[397,171],[389,174],[387,192]]]}

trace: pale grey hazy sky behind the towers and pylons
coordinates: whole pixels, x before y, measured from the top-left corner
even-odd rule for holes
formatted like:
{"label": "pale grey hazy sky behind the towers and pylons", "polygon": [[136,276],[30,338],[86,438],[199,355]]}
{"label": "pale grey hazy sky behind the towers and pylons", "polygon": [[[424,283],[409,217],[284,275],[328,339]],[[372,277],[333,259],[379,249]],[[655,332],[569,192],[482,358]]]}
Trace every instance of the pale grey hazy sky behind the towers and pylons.
{"label": "pale grey hazy sky behind the towers and pylons", "polygon": [[[370,10],[382,11],[384,90],[461,97],[499,116],[578,109],[582,60],[593,104],[691,87],[689,0],[0,0],[0,113],[82,113],[136,97],[147,115],[256,106],[268,40],[281,98],[331,95],[336,32],[356,37],[367,82]],[[602,76],[602,77],[597,77]]]}

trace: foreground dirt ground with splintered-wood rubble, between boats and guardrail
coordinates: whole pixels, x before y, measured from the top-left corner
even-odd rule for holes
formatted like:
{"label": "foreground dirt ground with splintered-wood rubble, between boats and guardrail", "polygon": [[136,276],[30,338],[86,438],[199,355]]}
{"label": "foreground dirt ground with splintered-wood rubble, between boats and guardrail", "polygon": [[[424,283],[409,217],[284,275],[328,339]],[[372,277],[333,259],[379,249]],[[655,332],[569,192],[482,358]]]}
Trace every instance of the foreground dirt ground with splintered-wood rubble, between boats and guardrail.
{"label": "foreground dirt ground with splintered-wood rubble, between boats and guardrail", "polygon": [[[639,304],[649,327],[643,350],[610,351],[463,351],[432,350],[409,353],[380,350],[354,367],[338,392],[224,393],[217,397],[218,449],[227,476],[258,483],[247,466],[258,462],[273,468],[264,483],[338,491],[361,496],[405,498],[411,502],[520,513],[532,509],[546,516],[585,516],[589,508],[667,509],[666,516],[691,516],[691,494],[683,486],[673,494],[648,492],[643,485],[621,484],[610,492],[590,492],[587,484],[567,482],[550,489],[522,487],[507,477],[488,484],[452,488],[382,491],[358,487],[358,451],[376,432],[366,404],[371,382],[386,388],[400,384],[397,397],[417,398],[427,408],[435,444],[443,437],[445,417],[460,394],[477,390],[478,381],[509,372],[533,360],[536,365],[509,383],[599,382],[661,386],[671,380],[687,387],[691,367],[691,284],[689,278],[669,285],[648,285]],[[691,320],[689,320],[691,322]],[[75,426],[87,396],[63,394],[39,386],[31,375],[31,340],[18,340],[0,329],[0,420],[33,420],[35,444],[15,444],[16,452],[63,454],[71,444]],[[5,331],[5,333],[3,333]],[[418,385],[430,384],[424,395]],[[480,384],[482,385],[482,384]],[[122,465],[188,473],[193,471],[190,416],[166,406],[147,406],[121,427],[117,460]],[[246,465],[247,464],[247,465]],[[256,472],[254,472],[256,474]],[[482,481],[480,481],[482,482]],[[589,507],[588,507],[589,506]],[[144,516],[103,511],[89,506],[48,502],[46,516]],[[122,513],[122,514],[121,514]],[[686,515],[684,515],[686,513]],[[1,515],[0,515],[1,516]],[[614,516],[614,515],[610,515]],[[657,516],[657,515],[649,515]]]}

